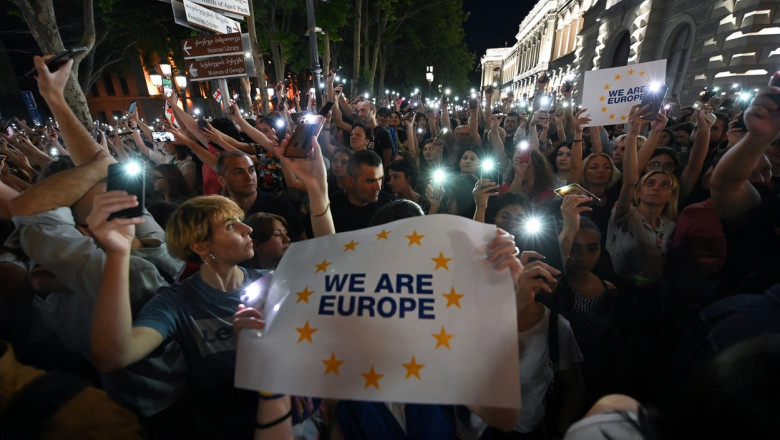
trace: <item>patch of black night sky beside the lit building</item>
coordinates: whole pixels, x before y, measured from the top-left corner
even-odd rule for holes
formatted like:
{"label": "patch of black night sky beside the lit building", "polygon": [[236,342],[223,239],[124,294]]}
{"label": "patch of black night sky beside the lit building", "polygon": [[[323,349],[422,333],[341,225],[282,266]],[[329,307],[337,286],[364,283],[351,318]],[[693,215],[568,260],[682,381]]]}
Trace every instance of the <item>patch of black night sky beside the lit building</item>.
{"label": "patch of black night sky beside the lit building", "polygon": [[[486,49],[515,43],[520,22],[535,4],[532,0],[463,0],[463,10],[470,13],[466,44],[476,54],[475,70]],[[474,71],[470,80],[478,82],[479,74]]]}

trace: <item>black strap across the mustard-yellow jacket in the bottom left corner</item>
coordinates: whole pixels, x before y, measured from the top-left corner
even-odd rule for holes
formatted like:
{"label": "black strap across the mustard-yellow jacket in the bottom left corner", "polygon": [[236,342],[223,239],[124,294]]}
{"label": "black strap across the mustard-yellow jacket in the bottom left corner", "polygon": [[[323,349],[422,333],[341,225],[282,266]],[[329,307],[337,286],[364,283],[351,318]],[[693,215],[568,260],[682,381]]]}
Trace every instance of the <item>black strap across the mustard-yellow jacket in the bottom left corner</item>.
{"label": "black strap across the mustard-yellow jacket in the bottom left corner", "polygon": [[90,386],[85,378],[62,371],[50,371],[28,383],[0,415],[0,437],[39,438],[46,423],[70,399]]}

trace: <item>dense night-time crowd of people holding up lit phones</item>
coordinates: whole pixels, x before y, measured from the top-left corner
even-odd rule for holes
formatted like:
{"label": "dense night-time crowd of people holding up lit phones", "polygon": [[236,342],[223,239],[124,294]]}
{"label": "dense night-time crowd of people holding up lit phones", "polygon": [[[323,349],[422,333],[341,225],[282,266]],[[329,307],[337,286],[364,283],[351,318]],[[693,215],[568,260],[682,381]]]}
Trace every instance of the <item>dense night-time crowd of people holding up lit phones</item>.
{"label": "dense night-time crowd of people holding up lit phones", "polygon": [[[490,87],[462,111],[446,97],[377,106],[330,73],[324,126],[308,157],[291,158],[290,134],[320,109],[281,84],[270,114],[231,102],[225,117],[195,118],[174,93],[163,127],[133,112],[90,133],[64,99],[71,64],[44,61],[52,123],[0,135],[7,438],[780,432],[780,344],[768,336],[780,331],[780,72],[744,108],[727,96],[717,108],[634,106],[605,127],[573,107],[571,87],[539,109],[544,75],[526,113]],[[116,162],[142,164],[143,197],[107,191]],[[264,324],[243,289],[291,242],[435,214],[496,226],[485,258],[515,285],[522,409],[234,387],[237,338]],[[529,239],[540,222],[553,250]],[[31,403],[41,396],[48,405]],[[69,424],[69,411],[89,422]]]}

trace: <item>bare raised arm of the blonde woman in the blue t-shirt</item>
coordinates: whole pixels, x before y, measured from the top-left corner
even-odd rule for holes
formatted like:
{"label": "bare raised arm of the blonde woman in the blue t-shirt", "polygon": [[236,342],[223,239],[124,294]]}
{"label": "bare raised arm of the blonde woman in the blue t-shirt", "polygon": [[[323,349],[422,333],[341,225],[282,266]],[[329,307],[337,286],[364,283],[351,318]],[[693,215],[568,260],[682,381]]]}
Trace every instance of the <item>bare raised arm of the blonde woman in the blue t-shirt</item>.
{"label": "bare raised arm of the blonde woman in the blue t-shirt", "polygon": [[137,362],[163,342],[149,327],[133,328],[130,307],[130,247],[135,225],[143,218],[116,218],[110,213],[138,205],[135,196],[111,191],[95,196],[87,224],[93,238],[106,253],[103,278],[92,319],[92,363],[101,372],[118,370]]}

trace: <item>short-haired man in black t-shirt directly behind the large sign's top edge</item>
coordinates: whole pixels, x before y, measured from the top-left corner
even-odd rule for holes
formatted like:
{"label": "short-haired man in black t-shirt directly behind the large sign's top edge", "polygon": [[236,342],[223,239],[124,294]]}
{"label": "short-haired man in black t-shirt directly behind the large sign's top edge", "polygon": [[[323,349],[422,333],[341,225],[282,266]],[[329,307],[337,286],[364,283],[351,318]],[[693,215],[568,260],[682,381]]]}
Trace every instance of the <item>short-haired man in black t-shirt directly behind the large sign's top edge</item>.
{"label": "short-haired man in black t-shirt directly behind the large sign's top edge", "polygon": [[382,159],[371,150],[356,151],[347,163],[346,188],[330,195],[336,232],[368,226],[377,209],[394,200],[382,191]]}

